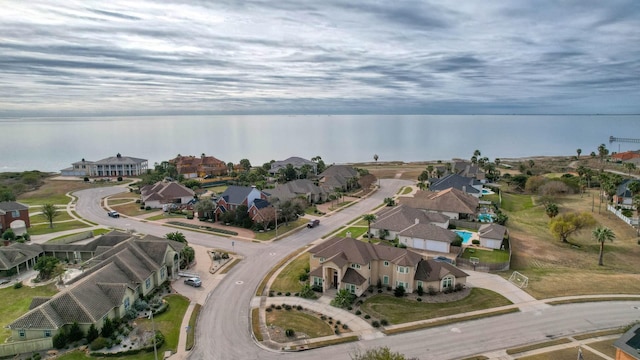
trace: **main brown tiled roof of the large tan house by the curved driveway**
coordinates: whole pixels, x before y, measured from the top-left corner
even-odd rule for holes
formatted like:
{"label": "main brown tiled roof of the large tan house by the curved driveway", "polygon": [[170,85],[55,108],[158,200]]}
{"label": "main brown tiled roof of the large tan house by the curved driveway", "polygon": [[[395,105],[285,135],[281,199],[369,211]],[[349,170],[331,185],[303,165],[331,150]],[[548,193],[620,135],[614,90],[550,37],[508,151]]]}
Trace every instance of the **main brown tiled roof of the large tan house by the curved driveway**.
{"label": "main brown tiled roof of the large tan house by the curved driveway", "polygon": [[407,249],[370,244],[352,238],[333,238],[309,249],[309,253],[333,261],[366,265],[372,260],[387,260],[401,266],[416,266],[422,255]]}

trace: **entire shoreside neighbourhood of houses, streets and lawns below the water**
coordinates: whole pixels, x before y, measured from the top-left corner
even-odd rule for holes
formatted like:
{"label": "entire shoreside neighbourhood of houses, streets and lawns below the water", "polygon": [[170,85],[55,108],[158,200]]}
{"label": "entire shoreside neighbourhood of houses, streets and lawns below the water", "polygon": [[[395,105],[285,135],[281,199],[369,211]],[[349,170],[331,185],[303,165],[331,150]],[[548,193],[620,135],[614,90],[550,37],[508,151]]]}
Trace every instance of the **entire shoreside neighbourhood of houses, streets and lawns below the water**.
{"label": "entire shoreside neighbourhood of houses, streets and lawns below the water", "polygon": [[640,359],[640,151],[325,160],[0,173],[0,357]]}

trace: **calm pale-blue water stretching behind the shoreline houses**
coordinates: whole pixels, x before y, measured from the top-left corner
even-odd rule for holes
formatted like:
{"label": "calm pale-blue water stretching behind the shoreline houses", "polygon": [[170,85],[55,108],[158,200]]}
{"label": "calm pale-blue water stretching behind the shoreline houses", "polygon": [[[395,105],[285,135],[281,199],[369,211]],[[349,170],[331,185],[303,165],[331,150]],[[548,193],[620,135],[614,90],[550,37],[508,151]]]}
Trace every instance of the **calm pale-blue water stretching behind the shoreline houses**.
{"label": "calm pale-blue water stretching behind the shoreline houses", "polygon": [[58,172],[121,153],[155,162],[205,153],[252,165],[290,156],[327,164],[493,160],[636,150],[609,136],[640,138],[639,115],[269,115],[23,118],[0,120],[0,171]]}

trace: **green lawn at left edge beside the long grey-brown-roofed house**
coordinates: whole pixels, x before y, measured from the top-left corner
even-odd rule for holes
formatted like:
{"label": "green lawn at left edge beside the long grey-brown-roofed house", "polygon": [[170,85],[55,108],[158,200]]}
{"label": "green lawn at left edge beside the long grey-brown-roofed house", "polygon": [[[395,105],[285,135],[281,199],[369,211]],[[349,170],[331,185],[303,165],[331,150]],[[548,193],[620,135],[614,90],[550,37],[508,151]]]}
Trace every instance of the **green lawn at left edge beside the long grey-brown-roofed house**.
{"label": "green lawn at left edge beside the long grey-brown-roofed house", "polygon": [[[11,331],[5,329],[12,321],[29,311],[29,304],[34,296],[53,296],[58,292],[55,285],[44,285],[30,288],[23,286],[20,289],[8,287],[0,289],[0,299],[4,299],[4,305],[0,306],[0,343],[11,336]],[[10,301],[9,301],[10,300]]]}

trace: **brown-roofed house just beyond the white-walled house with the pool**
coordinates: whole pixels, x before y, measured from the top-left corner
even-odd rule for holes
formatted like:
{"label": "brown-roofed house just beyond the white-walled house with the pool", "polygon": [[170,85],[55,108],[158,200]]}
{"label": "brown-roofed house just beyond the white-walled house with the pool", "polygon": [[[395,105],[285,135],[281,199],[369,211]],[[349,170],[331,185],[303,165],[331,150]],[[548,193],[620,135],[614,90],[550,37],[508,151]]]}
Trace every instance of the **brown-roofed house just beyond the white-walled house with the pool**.
{"label": "brown-roofed house just beyond the white-walled house with the pool", "polygon": [[480,201],[462,190],[449,188],[443,191],[418,190],[413,197],[399,197],[400,204],[428,212],[437,212],[451,219],[473,218]]}

